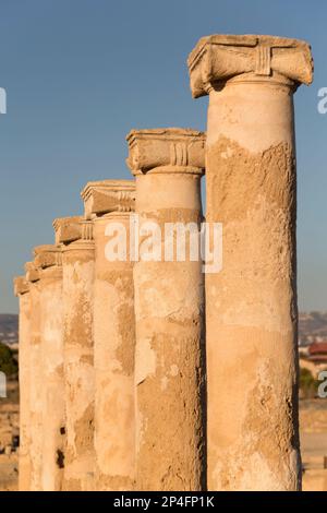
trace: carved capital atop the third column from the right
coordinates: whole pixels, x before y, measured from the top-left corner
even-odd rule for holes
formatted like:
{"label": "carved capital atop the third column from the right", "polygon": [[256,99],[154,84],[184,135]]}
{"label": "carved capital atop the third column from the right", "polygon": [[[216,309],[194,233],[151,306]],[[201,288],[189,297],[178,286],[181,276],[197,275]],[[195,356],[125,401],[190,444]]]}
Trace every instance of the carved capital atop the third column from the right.
{"label": "carved capital atop the third column from the right", "polygon": [[90,181],[81,195],[86,219],[110,212],[132,212],[135,204],[135,183],[132,180]]}

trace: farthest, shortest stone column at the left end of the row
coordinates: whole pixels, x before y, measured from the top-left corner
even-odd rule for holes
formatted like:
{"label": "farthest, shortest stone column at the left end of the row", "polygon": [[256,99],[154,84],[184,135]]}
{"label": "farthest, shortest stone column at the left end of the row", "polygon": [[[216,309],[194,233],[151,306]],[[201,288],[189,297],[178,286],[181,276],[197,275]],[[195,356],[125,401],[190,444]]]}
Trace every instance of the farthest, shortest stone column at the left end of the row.
{"label": "farthest, shortest stone column at the left end of the row", "polygon": [[14,293],[20,298],[20,456],[19,489],[31,490],[31,295],[25,276],[14,279]]}

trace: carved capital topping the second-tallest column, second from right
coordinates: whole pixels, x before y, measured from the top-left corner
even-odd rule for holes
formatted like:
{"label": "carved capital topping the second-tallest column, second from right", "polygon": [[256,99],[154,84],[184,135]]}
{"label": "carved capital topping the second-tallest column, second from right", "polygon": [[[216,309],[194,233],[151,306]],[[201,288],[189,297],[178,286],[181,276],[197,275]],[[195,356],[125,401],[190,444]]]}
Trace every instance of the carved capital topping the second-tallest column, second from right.
{"label": "carved capital topping the second-tallest column, second from right", "polygon": [[126,164],[133,175],[149,170],[204,174],[204,132],[180,128],[132,130],[126,141],[130,151]]}

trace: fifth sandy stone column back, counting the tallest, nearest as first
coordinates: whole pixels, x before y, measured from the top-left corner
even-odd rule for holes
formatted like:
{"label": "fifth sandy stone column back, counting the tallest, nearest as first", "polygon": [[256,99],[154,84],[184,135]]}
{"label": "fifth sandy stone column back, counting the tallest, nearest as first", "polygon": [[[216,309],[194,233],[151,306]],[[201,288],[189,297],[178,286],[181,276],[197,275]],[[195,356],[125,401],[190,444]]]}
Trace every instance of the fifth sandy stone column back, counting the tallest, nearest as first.
{"label": "fifth sandy stone column back, counting the tallest, nearest as first", "polygon": [[43,366],[41,489],[60,491],[63,477],[63,311],[62,265],[59,246],[35,248],[39,270],[40,338]]}

